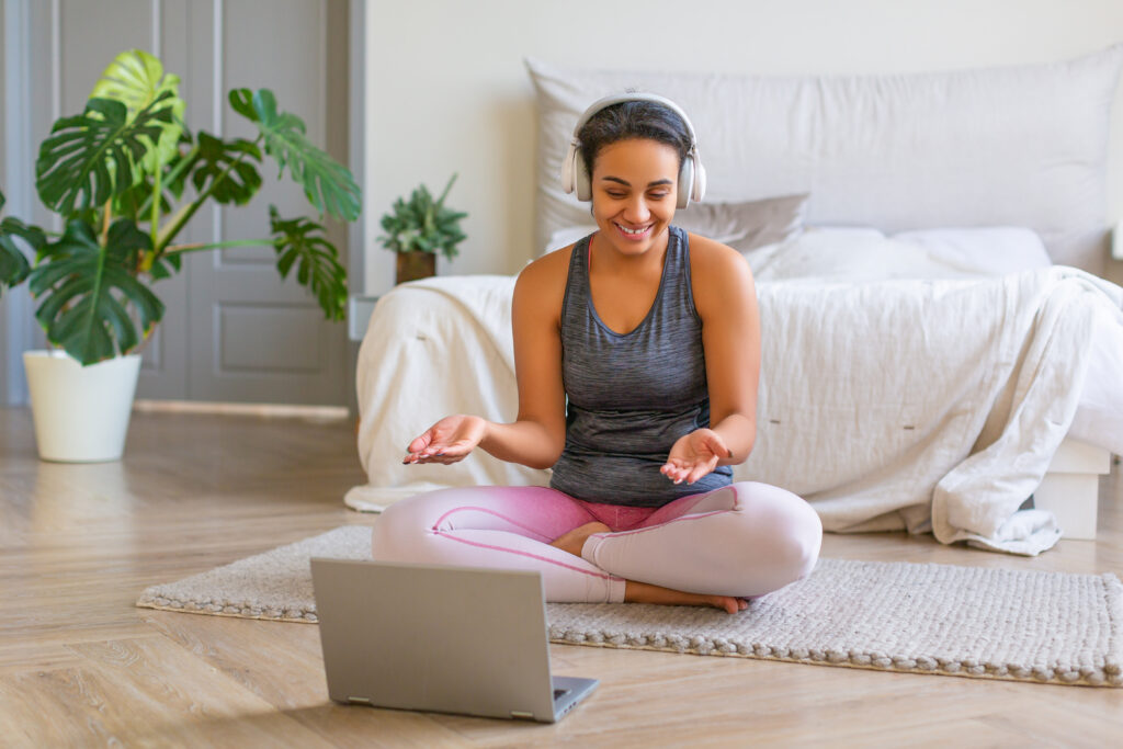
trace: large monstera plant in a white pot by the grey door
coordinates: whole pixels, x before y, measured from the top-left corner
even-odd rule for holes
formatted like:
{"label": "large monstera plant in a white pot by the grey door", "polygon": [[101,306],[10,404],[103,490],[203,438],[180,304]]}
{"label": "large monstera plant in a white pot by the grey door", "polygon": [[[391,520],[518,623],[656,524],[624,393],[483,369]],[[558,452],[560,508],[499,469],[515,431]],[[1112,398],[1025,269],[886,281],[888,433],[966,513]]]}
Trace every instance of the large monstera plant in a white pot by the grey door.
{"label": "large monstera plant in a white pot by the grey door", "polygon": [[[118,55],[85,110],[57,120],[39,147],[36,190],[62,219],[62,232],[0,221],[0,291],[27,281],[35,317],[58,347],[24,354],[45,459],[120,457],[136,351],[164,316],[154,287],[182,268],[186,253],[272,245],[282,277],[295,268],[328,319],[345,317],[347,273],[311,218],[282,218],[270,207],[268,237],[176,241],[203,204],[250,201],[262,185],[263,154],[304,188],[320,220],[327,213],[351,221],[360,204],[351,174],[308,140],[300,118],[277,111],[272,91],[230,91],[230,106],[256,136],[220,138],[188,129],[179,84],[145,52]],[[30,262],[20,243],[33,250]]]}

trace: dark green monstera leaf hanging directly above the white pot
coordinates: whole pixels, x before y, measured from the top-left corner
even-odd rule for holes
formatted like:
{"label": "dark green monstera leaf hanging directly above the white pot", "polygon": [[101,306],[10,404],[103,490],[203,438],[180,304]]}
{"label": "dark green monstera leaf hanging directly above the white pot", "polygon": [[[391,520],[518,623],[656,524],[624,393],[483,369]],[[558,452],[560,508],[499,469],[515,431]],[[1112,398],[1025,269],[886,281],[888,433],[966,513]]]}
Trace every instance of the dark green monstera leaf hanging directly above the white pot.
{"label": "dark green monstera leaf hanging directly above the white pot", "polygon": [[47,339],[83,366],[136,348],[164,316],[163,303],[136,277],[139,254],[150,248],[148,235],[130,219],[113,222],[104,247],[89,223],[69,222],[43,250],[49,262],[29,278],[31,294],[42,300],[35,317]]}

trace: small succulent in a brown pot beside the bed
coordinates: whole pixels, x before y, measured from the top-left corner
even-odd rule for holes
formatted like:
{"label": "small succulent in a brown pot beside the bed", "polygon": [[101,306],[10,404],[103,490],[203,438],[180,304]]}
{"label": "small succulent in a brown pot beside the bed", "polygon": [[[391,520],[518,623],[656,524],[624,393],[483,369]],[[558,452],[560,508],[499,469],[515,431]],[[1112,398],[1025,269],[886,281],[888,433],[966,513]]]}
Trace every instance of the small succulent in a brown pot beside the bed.
{"label": "small succulent in a brown pot beside the bed", "polygon": [[394,201],[393,210],[382,217],[382,229],[386,234],[378,237],[378,241],[386,249],[398,253],[398,283],[435,275],[437,253],[448,259],[457,256],[459,250],[456,246],[466,238],[460,231],[460,219],[467,213],[445,205],[445,198],[455,182],[456,174],[449,179],[437,200],[422,184],[408,201],[402,198]]}

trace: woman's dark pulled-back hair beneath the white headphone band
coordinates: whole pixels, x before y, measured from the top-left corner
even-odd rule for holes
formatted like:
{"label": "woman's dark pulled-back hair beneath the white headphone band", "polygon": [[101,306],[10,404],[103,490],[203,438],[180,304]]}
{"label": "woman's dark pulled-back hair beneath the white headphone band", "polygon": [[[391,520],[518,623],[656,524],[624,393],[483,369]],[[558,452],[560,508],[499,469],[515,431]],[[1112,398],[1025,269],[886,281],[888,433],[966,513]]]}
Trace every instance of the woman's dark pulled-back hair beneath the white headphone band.
{"label": "woman's dark pulled-back hair beneath the white headphone band", "polygon": [[593,163],[601,149],[620,140],[645,138],[670,146],[678,154],[678,166],[691,150],[686,122],[673,109],[656,101],[622,101],[593,115],[577,131],[581,157],[592,176]]}

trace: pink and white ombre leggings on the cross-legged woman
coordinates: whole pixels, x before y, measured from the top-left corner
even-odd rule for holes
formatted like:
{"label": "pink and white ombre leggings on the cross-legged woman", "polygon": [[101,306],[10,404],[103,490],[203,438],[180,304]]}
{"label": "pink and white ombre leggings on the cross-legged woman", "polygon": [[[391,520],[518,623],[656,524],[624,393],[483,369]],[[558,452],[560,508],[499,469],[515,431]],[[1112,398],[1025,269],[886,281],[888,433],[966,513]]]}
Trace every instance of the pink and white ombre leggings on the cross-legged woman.
{"label": "pink and white ombre leggings on the cross-legged woman", "polygon": [[[550,541],[587,522],[581,558]],[[791,492],[740,482],[661,508],[575,500],[542,486],[468,486],[391,505],[374,526],[382,561],[538,569],[547,601],[619,602],[624,582],[755,597],[815,566],[822,524]]]}

